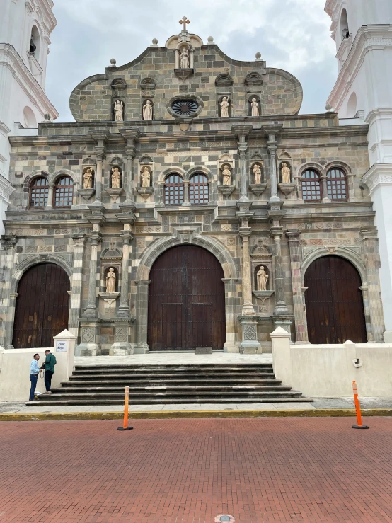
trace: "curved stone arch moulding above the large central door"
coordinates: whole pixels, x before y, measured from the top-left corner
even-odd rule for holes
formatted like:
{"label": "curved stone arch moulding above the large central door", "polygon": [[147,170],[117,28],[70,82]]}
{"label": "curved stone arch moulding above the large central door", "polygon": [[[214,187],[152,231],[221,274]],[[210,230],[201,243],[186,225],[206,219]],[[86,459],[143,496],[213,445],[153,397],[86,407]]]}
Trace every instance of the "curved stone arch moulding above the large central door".
{"label": "curved stone arch moulding above the large central door", "polygon": [[207,249],[221,264],[225,278],[238,278],[233,258],[231,258],[229,251],[226,250],[226,247],[222,243],[218,243],[212,238],[207,238],[207,236],[193,236],[190,238],[190,241],[185,241],[183,236],[171,236],[171,238],[154,241],[149,248],[144,251],[137,268],[135,279],[148,280],[151,267],[154,265],[155,260],[157,260],[164,251],[167,251],[168,248],[182,244],[196,245]]}

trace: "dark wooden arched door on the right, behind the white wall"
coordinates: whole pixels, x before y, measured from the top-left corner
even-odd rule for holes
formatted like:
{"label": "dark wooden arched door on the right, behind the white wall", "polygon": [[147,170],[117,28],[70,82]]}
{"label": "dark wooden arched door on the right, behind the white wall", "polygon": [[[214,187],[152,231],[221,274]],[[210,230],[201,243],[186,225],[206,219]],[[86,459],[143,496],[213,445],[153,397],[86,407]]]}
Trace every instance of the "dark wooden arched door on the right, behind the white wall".
{"label": "dark wooden arched door on the right, behind the white wall", "polygon": [[311,343],[366,343],[361,277],[339,256],[323,256],[306,270],[306,320]]}

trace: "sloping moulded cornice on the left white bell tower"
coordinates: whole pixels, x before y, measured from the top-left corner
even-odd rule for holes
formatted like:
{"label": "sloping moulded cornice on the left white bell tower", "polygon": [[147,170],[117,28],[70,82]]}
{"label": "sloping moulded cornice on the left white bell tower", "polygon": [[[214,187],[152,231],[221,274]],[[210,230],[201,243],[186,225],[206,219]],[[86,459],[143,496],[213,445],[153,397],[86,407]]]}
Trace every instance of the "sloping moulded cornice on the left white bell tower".
{"label": "sloping moulded cornice on the left white bell tower", "polygon": [[59,116],[56,108],[50,103],[49,98],[47,98],[45,91],[25,66],[13,45],[0,44],[0,66],[8,67],[8,69],[11,70],[18,84],[23,91],[25,91],[25,94],[30,98],[32,103],[38,107],[42,114],[50,113],[53,118]]}

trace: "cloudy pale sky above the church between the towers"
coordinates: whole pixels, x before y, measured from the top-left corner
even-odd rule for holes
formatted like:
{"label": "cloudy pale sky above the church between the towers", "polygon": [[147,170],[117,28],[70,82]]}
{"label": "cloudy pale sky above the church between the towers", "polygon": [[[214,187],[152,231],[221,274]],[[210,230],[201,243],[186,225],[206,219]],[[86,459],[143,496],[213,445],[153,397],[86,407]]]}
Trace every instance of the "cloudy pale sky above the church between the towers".
{"label": "cloudy pale sky above the church between the towers", "polygon": [[103,73],[110,58],[130,62],[153,38],[164,45],[180,31],[214,42],[234,59],[253,60],[260,51],[267,67],[296,76],[304,88],[301,113],[322,113],[338,75],[335,44],[325,0],[54,0],[57,28],[47,66],[47,93],[60,113],[74,121],[69,95],[79,82]]}

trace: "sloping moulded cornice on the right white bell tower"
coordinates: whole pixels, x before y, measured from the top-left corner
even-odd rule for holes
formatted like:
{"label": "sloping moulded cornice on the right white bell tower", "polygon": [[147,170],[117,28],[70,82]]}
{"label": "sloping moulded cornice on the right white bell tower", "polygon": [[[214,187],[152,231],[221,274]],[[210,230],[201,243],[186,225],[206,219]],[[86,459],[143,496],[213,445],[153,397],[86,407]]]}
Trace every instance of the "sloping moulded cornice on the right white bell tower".
{"label": "sloping moulded cornice on the right white bell tower", "polygon": [[392,50],[392,24],[363,25],[359,28],[327,100],[335,110],[340,109],[345,96],[350,91],[352,81],[357,76],[365,55],[375,49]]}

